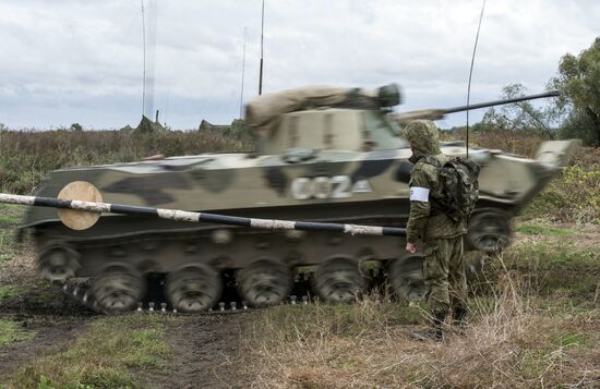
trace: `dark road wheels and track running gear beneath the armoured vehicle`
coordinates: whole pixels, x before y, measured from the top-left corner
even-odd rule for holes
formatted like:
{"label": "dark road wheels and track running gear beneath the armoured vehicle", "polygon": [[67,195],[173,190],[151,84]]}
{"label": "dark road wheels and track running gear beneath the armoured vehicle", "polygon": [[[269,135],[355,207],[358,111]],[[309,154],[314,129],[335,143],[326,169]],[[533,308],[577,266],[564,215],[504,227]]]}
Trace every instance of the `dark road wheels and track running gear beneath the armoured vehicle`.
{"label": "dark road wheels and track running gear beneath the armoured vehicle", "polygon": [[[404,220],[391,216],[345,218],[344,221],[396,227]],[[260,307],[278,304],[291,295],[307,295],[311,300],[320,296],[324,301],[345,303],[353,301],[356,292],[365,290],[374,280],[380,285],[389,281],[392,291],[409,301],[419,299],[423,291],[420,255],[408,255],[404,251],[404,240],[393,236],[272,232],[215,224],[91,239],[72,239],[58,233],[40,235],[38,266],[43,275],[49,273],[44,270],[45,266],[56,259],[52,251],[62,251],[67,258],[64,266],[74,268],[60,273],[61,288],[95,312],[149,309],[149,302],[154,302],[155,311],[164,307],[171,312],[173,308],[221,312],[221,302],[228,307],[231,303],[237,308]],[[373,244],[374,240],[377,244]],[[163,256],[168,260],[154,262],[147,256]],[[367,271],[376,273],[369,277]],[[159,282],[146,283],[148,275],[157,276]],[[46,278],[52,280],[50,276]],[[76,283],[72,277],[88,281]],[[298,277],[303,278],[303,293],[297,293],[295,285],[298,282],[291,282],[298,281]],[[105,300],[116,288],[127,299],[117,301],[112,307],[115,302],[107,305]],[[212,292],[207,294],[203,289]],[[261,296],[261,289],[272,289],[271,294],[265,292],[267,297]],[[202,293],[207,295],[202,296]]]}

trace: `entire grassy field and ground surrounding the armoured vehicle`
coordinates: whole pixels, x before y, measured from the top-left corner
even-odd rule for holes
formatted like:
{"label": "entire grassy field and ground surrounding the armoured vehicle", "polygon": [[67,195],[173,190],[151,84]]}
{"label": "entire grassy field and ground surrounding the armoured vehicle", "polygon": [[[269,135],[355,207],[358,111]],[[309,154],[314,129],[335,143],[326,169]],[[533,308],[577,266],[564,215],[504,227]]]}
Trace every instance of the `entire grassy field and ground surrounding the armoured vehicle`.
{"label": "entire grassy field and ground surrounding the armoured vehicle", "polygon": [[[133,136],[2,133],[0,186],[27,193],[64,166],[251,147],[214,133]],[[39,281],[14,241],[24,208],[0,205],[0,388],[600,387],[600,153],[584,151],[515,221],[502,256],[473,256],[466,336],[444,343],[413,340],[427,306],[384,291],[352,305],[98,316]]]}

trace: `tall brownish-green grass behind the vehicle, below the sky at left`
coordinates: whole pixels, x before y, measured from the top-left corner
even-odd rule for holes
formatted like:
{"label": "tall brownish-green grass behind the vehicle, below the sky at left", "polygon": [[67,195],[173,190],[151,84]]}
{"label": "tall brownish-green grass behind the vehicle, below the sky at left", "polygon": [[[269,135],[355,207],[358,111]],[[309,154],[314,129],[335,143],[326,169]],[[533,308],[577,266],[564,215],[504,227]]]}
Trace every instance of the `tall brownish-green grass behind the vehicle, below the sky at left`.
{"label": "tall brownish-green grass behind the vehicle, below the sky at left", "polygon": [[0,190],[28,193],[49,171],[82,165],[131,162],[207,151],[250,150],[240,132],[0,131]]}

